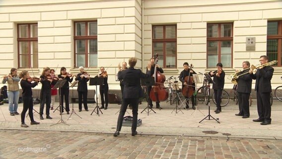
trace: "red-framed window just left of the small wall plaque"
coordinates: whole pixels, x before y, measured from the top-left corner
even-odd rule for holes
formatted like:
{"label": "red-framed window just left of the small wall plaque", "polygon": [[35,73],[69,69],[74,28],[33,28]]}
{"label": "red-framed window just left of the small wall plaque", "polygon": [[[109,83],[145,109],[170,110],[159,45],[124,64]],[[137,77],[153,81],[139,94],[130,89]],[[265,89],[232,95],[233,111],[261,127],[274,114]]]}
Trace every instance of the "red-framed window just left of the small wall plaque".
{"label": "red-framed window just left of the small wall plaque", "polygon": [[225,68],[232,67],[232,23],[208,24],[207,35],[207,65],[214,68],[222,63]]}

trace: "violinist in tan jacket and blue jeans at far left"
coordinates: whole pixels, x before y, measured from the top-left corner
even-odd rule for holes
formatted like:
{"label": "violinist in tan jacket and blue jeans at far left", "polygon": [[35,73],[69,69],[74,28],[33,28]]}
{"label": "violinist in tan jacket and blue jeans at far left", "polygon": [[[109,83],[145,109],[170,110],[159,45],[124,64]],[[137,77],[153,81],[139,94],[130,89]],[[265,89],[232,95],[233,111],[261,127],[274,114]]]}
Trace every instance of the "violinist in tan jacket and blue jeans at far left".
{"label": "violinist in tan jacket and blue jeans at far left", "polygon": [[17,75],[17,69],[11,68],[9,75],[4,76],[2,83],[8,83],[7,85],[7,96],[9,102],[9,112],[11,116],[18,115],[18,99],[19,99],[19,76]]}

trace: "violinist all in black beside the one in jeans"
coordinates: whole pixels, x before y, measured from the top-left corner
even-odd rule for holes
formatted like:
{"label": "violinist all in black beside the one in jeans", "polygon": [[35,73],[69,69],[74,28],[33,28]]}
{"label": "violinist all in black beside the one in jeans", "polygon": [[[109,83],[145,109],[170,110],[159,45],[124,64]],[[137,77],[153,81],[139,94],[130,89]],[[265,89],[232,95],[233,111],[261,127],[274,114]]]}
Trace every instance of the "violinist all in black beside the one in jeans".
{"label": "violinist all in black beside the one in jeans", "polygon": [[24,118],[25,118],[25,113],[28,109],[28,115],[30,117],[30,124],[31,125],[36,125],[36,124],[40,124],[39,122],[34,121],[33,119],[33,100],[32,100],[32,90],[31,88],[35,87],[38,84],[38,81],[34,81],[33,83],[31,83],[31,81],[28,81],[29,74],[27,71],[22,71],[20,74],[20,86],[22,89],[22,100],[23,100],[23,109],[22,112],[20,114],[21,116],[21,127],[28,127],[28,125],[26,125],[24,123]]}

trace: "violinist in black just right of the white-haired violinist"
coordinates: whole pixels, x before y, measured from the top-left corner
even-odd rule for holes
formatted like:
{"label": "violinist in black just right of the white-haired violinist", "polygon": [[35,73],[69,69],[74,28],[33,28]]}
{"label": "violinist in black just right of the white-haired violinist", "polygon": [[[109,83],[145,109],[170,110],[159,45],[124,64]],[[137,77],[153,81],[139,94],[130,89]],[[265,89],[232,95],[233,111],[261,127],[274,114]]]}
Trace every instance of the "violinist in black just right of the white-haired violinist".
{"label": "violinist in black just right of the white-haired violinist", "polygon": [[[109,91],[109,85],[108,85],[108,74],[105,71],[104,67],[100,67],[101,74],[97,75],[98,78],[103,78],[103,83],[100,85],[100,95],[101,95],[101,103],[102,106],[100,109],[108,109],[108,91]],[[105,100],[104,100],[105,96]],[[105,105],[105,106],[104,106]]]}

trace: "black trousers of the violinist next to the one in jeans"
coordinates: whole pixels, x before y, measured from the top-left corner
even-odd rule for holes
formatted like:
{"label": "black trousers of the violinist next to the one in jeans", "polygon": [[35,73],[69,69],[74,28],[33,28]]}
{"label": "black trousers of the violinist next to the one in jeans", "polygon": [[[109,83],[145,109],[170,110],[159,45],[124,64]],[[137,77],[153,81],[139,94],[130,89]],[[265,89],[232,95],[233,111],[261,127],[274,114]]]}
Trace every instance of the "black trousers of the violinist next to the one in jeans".
{"label": "black trousers of the violinist next to the one in jeans", "polygon": [[33,100],[32,100],[32,96],[27,96],[27,97],[22,97],[23,100],[23,108],[22,108],[22,112],[20,114],[20,118],[21,118],[21,123],[24,124],[24,118],[25,118],[25,113],[28,109],[28,115],[30,118],[31,122],[34,122],[33,119]]}

